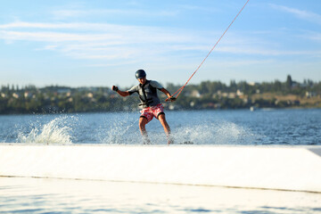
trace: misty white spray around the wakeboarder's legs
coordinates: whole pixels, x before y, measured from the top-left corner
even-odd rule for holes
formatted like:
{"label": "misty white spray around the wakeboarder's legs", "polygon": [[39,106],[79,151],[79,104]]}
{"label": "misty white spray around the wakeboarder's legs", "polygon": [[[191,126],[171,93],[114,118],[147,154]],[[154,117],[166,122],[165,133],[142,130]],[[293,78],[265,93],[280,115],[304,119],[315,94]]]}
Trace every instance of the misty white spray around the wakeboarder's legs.
{"label": "misty white spray around the wakeboarder's legs", "polygon": [[[109,123],[103,133],[103,144],[143,144],[142,136],[135,123]],[[167,144],[167,137],[161,126],[149,128],[148,136],[152,144]],[[230,121],[207,122],[172,128],[174,144],[253,144],[259,138],[250,128]]]}

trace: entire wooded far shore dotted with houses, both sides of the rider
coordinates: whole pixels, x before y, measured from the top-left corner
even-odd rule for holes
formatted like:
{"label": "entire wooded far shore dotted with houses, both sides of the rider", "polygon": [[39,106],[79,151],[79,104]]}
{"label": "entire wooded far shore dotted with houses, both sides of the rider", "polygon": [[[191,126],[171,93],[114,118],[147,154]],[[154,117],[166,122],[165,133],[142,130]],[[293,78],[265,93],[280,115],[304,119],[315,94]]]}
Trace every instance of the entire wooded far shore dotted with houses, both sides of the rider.
{"label": "entire wooded far shore dotted with houses, both sides of the rider", "polygon": [[[174,93],[181,86],[168,84]],[[165,99],[160,93],[161,99]],[[265,97],[269,95],[269,97]],[[280,97],[295,95],[293,100]],[[203,81],[187,85],[175,103],[164,103],[170,110],[242,109],[284,107],[321,107],[321,82],[293,81],[288,76],[284,82],[248,83],[231,80],[229,85],[220,81]],[[310,99],[313,102],[302,103]],[[69,86],[1,86],[0,114],[136,111],[136,95],[120,97],[110,87]]]}

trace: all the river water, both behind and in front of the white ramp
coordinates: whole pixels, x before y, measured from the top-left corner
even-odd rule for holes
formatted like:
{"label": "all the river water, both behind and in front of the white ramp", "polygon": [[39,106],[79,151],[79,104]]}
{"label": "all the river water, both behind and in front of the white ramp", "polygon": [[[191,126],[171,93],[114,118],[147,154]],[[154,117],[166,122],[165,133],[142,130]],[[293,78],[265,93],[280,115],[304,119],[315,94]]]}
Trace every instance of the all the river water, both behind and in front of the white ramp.
{"label": "all the river water, both behind and in front of the white ramp", "polygon": [[[166,111],[176,144],[320,145],[321,110]],[[0,116],[0,142],[142,144],[139,112]],[[166,144],[157,119],[152,144]],[[0,213],[321,213],[321,194],[0,177]]]}

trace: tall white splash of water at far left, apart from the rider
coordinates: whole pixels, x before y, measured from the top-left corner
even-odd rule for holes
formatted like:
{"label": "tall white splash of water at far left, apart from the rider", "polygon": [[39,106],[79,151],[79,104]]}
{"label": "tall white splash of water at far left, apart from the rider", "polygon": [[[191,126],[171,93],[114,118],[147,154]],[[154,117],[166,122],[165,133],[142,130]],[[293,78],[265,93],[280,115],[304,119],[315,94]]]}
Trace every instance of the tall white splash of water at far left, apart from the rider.
{"label": "tall white splash of water at far left, apart from the rider", "polygon": [[72,144],[68,117],[51,120],[41,128],[32,128],[29,134],[19,133],[17,142],[37,144]]}

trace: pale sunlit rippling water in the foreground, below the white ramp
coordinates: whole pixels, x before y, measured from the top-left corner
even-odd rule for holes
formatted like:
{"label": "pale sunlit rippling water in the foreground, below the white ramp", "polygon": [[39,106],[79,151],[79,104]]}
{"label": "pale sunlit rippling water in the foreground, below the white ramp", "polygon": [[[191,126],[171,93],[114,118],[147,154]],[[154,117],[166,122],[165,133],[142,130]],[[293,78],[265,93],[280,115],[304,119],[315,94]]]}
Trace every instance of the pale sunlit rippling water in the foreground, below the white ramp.
{"label": "pale sunlit rippling water in the foreground, below the white ramp", "polygon": [[321,212],[321,194],[195,185],[0,177],[0,213]]}

